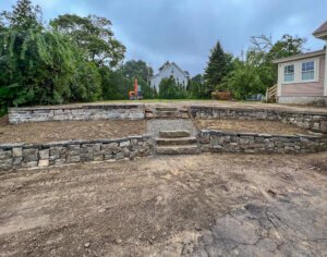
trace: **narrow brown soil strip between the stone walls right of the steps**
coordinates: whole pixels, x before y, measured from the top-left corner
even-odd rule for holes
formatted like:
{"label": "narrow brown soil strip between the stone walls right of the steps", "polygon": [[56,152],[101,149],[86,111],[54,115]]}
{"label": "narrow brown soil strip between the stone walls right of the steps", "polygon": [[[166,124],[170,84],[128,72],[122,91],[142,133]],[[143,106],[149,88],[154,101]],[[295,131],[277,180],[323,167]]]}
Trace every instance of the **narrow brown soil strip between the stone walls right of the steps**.
{"label": "narrow brown soil strip between the stone walls right of the steps", "polygon": [[229,132],[245,132],[261,134],[308,134],[306,130],[291,124],[276,121],[246,121],[246,120],[194,120],[198,130],[218,130]]}

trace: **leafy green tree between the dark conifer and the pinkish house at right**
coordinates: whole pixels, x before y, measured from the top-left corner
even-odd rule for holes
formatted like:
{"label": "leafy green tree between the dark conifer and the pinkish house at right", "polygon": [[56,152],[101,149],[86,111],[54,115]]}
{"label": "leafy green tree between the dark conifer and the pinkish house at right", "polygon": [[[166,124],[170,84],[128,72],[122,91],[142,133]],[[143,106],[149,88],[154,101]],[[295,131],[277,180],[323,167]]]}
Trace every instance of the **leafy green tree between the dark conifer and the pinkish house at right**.
{"label": "leafy green tree between the dark conifer and the pinkish house at right", "polygon": [[234,98],[246,99],[251,95],[265,94],[266,88],[277,83],[278,58],[284,58],[303,51],[305,39],[283,35],[275,44],[266,36],[252,37],[252,46],[244,61],[233,60],[233,70],[217,89],[230,90]]}

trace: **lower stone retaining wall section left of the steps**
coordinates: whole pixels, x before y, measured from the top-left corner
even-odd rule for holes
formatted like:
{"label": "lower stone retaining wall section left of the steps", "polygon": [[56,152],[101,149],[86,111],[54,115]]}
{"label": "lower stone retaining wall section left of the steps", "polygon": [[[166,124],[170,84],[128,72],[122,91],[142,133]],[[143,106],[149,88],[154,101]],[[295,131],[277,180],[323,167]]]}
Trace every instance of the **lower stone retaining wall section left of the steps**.
{"label": "lower stone retaining wall section left of the steps", "polygon": [[0,145],[0,171],[77,163],[87,161],[120,160],[153,154],[150,136],[122,139],[69,140],[48,144]]}

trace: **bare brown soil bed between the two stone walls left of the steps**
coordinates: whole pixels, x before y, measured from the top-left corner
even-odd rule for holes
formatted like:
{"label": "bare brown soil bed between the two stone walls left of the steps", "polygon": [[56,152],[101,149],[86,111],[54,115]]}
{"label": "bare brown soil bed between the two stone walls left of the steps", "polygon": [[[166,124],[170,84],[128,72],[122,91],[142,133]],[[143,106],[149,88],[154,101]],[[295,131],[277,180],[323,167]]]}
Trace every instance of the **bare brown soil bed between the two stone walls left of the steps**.
{"label": "bare brown soil bed between the two stone walls left of the steps", "polygon": [[19,125],[0,123],[0,143],[120,138],[144,133],[144,120],[36,122]]}

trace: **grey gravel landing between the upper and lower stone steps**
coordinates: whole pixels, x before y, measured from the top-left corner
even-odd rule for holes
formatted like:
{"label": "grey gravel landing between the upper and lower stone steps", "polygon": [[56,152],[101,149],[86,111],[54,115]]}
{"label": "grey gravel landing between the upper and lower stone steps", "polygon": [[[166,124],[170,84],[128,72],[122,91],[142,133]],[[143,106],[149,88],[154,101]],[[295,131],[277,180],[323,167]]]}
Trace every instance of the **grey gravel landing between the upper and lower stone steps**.
{"label": "grey gravel landing between the upper and lower stone steps", "polygon": [[174,120],[149,120],[146,123],[146,133],[158,136],[160,131],[190,131],[192,135],[196,135],[196,128],[192,120],[174,119]]}

